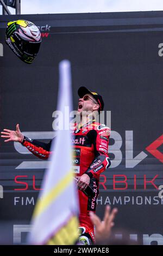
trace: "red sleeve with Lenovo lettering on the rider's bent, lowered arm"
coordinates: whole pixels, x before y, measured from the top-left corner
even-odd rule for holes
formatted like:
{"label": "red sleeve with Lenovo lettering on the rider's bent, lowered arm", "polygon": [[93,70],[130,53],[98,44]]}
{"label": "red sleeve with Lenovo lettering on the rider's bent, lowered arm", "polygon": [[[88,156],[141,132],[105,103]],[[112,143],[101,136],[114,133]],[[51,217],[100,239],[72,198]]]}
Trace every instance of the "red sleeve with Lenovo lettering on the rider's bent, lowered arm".
{"label": "red sleeve with Lenovo lettering on the rider's bent, lowered arm", "polygon": [[108,156],[110,128],[105,127],[102,131],[95,129],[90,130],[87,136],[92,141],[95,148],[95,159],[93,159],[93,162],[85,172],[92,178],[99,176],[99,174],[111,164],[111,160]]}

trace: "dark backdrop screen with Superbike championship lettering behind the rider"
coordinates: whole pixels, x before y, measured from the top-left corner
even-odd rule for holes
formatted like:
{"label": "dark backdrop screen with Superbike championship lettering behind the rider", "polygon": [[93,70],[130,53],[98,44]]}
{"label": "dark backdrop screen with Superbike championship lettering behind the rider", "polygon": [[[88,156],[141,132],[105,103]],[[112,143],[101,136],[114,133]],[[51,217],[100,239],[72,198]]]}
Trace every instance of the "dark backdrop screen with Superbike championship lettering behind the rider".
{"label": "dark backdrop screen with Superbike championship lettering behind the rider", "polygon": [[[33,64],[5,45],[9,19],[40,27],[42,45]],[[69,59],[74,109],[78,87],[87,86],[103,95],[111,111],[112,165],[101,175],[97,214],[103,217],[105,204],[117,207],[115,227],[144,245],[163,245],[162,33],[161,11],[0,16],[1,130],[19,123],[30,138],[52,138],[58,64]],[[2,139],[0,150],[1,243],[24,243],[46,162]]]}

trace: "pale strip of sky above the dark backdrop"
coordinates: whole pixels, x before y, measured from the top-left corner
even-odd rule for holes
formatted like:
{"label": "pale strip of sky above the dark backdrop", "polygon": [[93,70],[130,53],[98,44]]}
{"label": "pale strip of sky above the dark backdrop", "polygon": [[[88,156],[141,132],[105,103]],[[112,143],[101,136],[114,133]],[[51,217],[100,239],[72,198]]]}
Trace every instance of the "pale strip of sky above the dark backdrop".
{"label": "pale strip of sky above the dark backdrop", "polygon": [[[12,14],[15,9],[9,8]],[[163,10],[163,0],[21,0],[21,14]],[[0,14],[2,6],[0,5]]]}

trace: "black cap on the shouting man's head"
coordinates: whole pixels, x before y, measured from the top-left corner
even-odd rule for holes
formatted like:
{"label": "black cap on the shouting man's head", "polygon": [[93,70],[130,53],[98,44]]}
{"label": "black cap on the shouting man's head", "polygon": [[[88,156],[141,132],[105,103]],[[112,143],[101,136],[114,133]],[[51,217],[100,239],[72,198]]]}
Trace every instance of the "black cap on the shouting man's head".
{"label": "black cap on the shouting man's head", "polygon": [[103,110],[104,108],[104,102],[101,95],[99,95],[97,92],[91,92],[86,87],[82,86],[78,89],[78,95],[80,98],[83,98],[85,94],[90,93],[92,94],[93,98],[96,99],[97,104],[99,104],[99,110]]}

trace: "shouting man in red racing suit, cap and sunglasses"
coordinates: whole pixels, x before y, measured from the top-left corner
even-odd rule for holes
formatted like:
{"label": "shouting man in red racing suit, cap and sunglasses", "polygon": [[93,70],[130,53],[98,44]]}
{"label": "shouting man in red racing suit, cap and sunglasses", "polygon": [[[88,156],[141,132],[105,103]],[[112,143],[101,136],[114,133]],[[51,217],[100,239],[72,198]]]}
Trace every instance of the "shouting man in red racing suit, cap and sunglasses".
{"label": "shouting man in red racing suit, cap and sunglasses", "polygon": [[[96,122],[97,112],[102,111],[104,102],[102,96],[91,92],[86,87],[78,90],[79,102],[77,114],[80,117],[78,123],[73,124],[73,169],[78,179],[79,204],[80,204],[80,243],[90,245],[95,243],[93,224],[90,219],[90,211],[96,211],[96,200],[99,193],[99,174],[111,164],[108,157],[108,143],[110,128]],[[88,114],[89,113],[89,114]],[[51,143],[31,140],[23,136],[16,126],[16,131],[4,129],[1,132],[5,142],[18,141],[26,146],[30,152],[41,159],[47,159]],[[95,193],[93,198],[87,197],[83,191],[90,186]]]}

